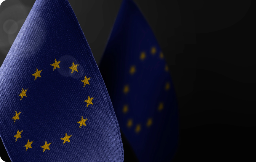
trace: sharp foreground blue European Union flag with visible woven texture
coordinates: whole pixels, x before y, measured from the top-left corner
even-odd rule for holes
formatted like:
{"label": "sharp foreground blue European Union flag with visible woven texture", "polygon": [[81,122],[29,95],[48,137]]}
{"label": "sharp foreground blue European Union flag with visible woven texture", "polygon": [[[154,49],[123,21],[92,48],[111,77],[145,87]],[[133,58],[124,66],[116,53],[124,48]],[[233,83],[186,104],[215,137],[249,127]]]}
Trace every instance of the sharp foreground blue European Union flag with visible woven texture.
{"label": "sharp foreground blue European Union flag with visible woven texture", "polygon": [[123,161],[109,94],[68,0],[36,0],[0,87],[0,136],[13,162]]}

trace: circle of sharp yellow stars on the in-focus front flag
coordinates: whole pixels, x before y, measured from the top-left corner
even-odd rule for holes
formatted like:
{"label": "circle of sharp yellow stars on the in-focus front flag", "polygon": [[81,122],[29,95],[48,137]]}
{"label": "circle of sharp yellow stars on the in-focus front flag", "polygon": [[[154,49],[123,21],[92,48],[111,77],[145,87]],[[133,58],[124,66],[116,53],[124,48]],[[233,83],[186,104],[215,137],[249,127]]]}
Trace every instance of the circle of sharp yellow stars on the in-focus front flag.
{"label": "circle of sharp yellow stars on the in-focus front flag", "polygon": [[[56,68],[59,68],[59,69],[60,69],[60,66],[59,66],[59,63],[60,63],[60,62],[61,62],[61,61],[57,61],[57,60],[55,59],[55,62],[54,62],[53,64],[50,64],[51,66],[53,66],[53,71],[54,71]],[[74,62],[72,63],[72,66],[69,67],[69,69],[72,70],[72,71],[71,71],[71,74],[72,74],[73,72],[75,72],[75,71],[78,72],[77,66],[78,66],[78,64],[74,64]],[[43,71],[43,70],[38,71],[38,69],[36,68],[35,73],[32,74],[32,75],[35,77],[34,80],[36,80],[37,77],[41,77],[40,74],[41,74],[42,71]],[[90,85],[90,83],[89,83],[89,80],[90,80],[90,79],[91,79],[91,77],[88,77],[88,78],[87,78],[86,75],[85,75],[85,79],[84,79],[84,80],[81,80],[81,82],[83,82],[83,87],[85,87],[86,84]],[[22,91],[21,91],[21,93],[19,94],[19,96],[21,97],[20,100],[22,100],[23,97],[27,97],[27,95],[26,95],[27,90],[28,90],[28,89],[24,90],[24,89],[22,88]],[[93,100],[93,98],[90,98],[90,96],[88,96],[88,99],[85,100],[85,102],[87,103],[86,107],[88,107],[88,105],[93,105],[92,100]],[[15,115],[14,115],[13,118],[12,118],[12,119],[14,120],[14,123],[16,122],[16,120],[19,120],[19,119],[20,119],[20,118],[19,118],[19,115],[20,115],[20,114],[21,114],[21,112],[18,113],[17,111],[15,111]],[[86,119],[83,119],[83,116],[82,116],[82,119],[77,122],[78,124],[80,124],[79,128],[81,128],[82,126],[86,126],[85,122],[86,122],[87,120],[88,120],[87,118],[86,118]],[[19,130],[18,130],[17,133],[14,135],[14,137],[16,138],[16,139],[15,139],[15,142],[17,142],[18,138],[21,138],[21,133],[22,133],[22,132],[23,132],[23,130],[22,130],[22,131],[19,131]],[[72,136],[72,135],[67,135],[67,133],[66,133],[66,134],[65,134],[65,137],[60,138],[61,140],[63,140],[63,145],[64,145],[64,143],[66,143],[66,142],[70,142],[69,138],[70,138],[71,136]],[[26,151],[27,151],[28,148],[32,148],[31,144],[32,144],[33,142],[34,142],[34,141],[29,142],[29,140],[27,140],[27,144],[24,145],[24,147],[26,147]],[[45,141],[45,144],[44,144],[43,146],[41,146],[41,148],[43,148],[43,152],[46,151],[46,149],[50,150],[50,145],[51,145],[51,143],[47,143],[47,142]]]}

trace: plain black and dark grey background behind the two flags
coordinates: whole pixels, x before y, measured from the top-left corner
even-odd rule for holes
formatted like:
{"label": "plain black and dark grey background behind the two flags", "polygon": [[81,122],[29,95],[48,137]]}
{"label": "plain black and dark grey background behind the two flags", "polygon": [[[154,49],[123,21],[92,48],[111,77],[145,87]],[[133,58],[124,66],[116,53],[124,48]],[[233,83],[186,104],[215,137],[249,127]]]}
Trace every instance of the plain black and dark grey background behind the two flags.
{"label": "plain black and dark grey background behind the two flags", "polygon": [[[178,96],[180,139],[173,161],[255,161],[254,1],[134,1],[162,48]],[[11,47],[3,46],[9,40],[2,32],[3,22],[14,14],[8,7],[19,4],[29,12],[34,2],[1,4],[1,64]],[[69,2],[99,64],[122,1]],[[122,140],[125,162],[136,162],[125,137]],[[10,161],[2,143],[0,148],[0,159]]]}

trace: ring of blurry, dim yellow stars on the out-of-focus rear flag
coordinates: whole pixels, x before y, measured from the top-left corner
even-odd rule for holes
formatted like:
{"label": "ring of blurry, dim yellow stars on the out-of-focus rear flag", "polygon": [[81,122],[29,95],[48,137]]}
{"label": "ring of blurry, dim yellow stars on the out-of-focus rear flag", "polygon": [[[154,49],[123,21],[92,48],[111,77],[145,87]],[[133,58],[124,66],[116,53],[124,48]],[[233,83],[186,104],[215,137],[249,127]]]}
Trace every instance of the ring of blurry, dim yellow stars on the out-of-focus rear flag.
{"label": "ring of blurry, dim yellow stars on the out-of-focus rear flag", "polygon": [[[152,47],[151,50],[150,50],[150,53],[151,53],[151,55],[155,55],[155,54],[157,53],[156,47]],[[146,57],[147,57],[147,55],[146,55],[146,52],[145,52],[145,51],[142,51],[142,52],[140,53],[140,55],[139,55],[139,59],[140,59],[141,61],[144,61]],[[160,53],[159,53],[159,58],[160,58],[160,59],[163,59],[163,58],[164,58],[163,52],[160,52]],[[164,70],[165,70],[166,72],[169,71],[167,64],[165,64],[165,69],[164,69]],[[130,73],[130,75],[134,75],[134,74],[136,73],[136,66],[135,66],[135,65],[130,66],[129,73]],[[166,83],[165,83],[164,89],[165,89],[165,91],[168,91],[168,90],[170,89],[170,83],[169,83],[169,82],[166,82]],[[129,91],[130,91],[130,87],[129,87],[129,85],[127,84],[127,85],[125,85],[124,88],[123,88],[123,93],[124,93],[124,94],[128,94]],[[158,105],[158,107],[157,107],[158,112],[162,112],[163,108],[164,108],[164,104],[163,104],[163,102],[160,102],[159,105]],[[128,105],[127,105],[127,104],[123,105],[123,109],[122,109],[123,114],[126,114],[128,111],[129,111]],[[152,124],[153,124],[153,118],[148,118],[145,125],[146,125],[147,127],[150,127],[150,126],[152,126]],[[129,119],[127,120],[126,126],[127,126],[128,128],[131,128],[131,127],[133,126],[133,119],[129,118]],[[135,129],[134,129],[134,132],[139,133],[139,132],[141,131],[141,127],[142,127],[142,125],[141,125],[140,123],[136,124]]]}

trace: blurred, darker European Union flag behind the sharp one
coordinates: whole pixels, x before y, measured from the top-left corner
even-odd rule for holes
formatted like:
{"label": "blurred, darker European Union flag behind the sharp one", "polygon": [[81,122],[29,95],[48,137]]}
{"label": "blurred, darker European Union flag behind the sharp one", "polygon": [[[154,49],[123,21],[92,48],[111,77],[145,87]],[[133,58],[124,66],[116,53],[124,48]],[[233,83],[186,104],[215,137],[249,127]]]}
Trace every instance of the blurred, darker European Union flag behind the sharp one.
{"label": "blurred, darker European Union flag behind the sharp one", "polygon": [[174,86],[154,33],[132,0],[122,2],[99,69],[139,161],[170,161],[178,145]]}

